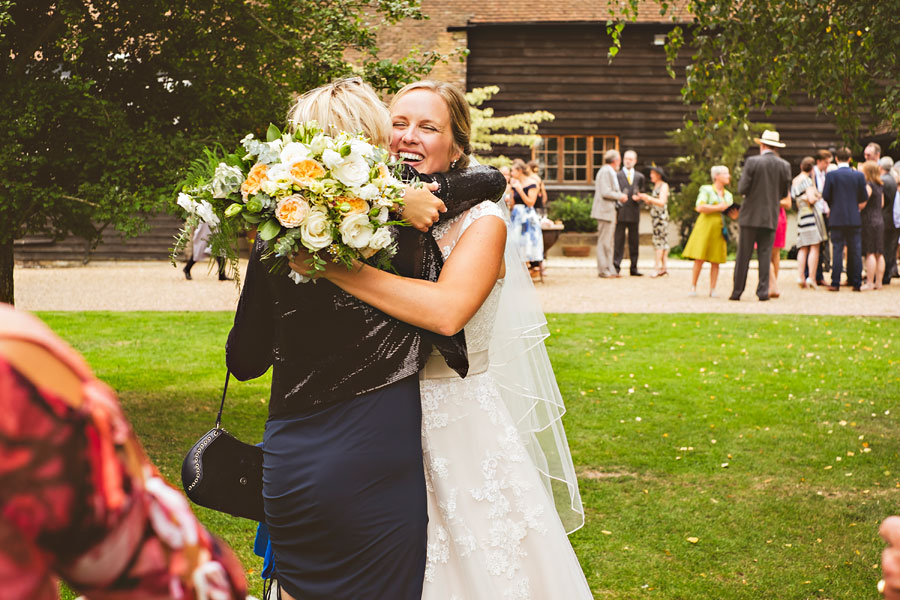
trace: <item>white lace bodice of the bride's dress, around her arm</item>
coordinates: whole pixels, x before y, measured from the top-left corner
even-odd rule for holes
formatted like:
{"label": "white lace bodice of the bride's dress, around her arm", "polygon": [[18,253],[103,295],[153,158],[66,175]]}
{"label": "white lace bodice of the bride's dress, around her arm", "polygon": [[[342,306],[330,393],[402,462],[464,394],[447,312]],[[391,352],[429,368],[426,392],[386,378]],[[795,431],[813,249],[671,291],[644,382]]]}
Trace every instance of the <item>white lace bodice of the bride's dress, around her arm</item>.
{"label": "white lace bodice of the bride's dress, around her arm", "polygon": [[[495,202],[482,202],[477,206],[462,213],[446,223],[440,223],[432,229],[432,235],[441,249],[441,254],[446,261],[450,253],[456,247],[457,242],[469,226],[482,217],[494,216],[503,219],[503,211]],[[494,318],[497,315],[497,307],[500,304],[500,293],[503,289],[503,280],[498,279],[491,293],[488,294],[484,304],[478,312],[466,324],[466,348],[469,354],[487,350],[491,342],[491,333],[494,329]]]}

